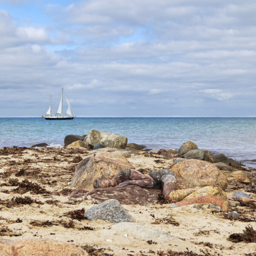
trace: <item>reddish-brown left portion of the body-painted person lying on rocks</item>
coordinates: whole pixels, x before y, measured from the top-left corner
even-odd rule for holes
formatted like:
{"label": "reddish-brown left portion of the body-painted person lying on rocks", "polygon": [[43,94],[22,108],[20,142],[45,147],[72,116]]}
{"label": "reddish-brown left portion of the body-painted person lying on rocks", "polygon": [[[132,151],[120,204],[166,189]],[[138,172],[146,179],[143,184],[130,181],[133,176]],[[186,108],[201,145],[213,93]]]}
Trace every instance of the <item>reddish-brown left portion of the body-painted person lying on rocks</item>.
{"label": "reddish-brown left portion of the body-painted person lying on rocks", "polygon": [[93,182],[93,188],[120,188],[127,185],[137,185],[143,188],[153,188],[154,180],[149,176],[142,174],[134,169],[122,169],[118,175],[112,179],[109,176],[96,178]]}

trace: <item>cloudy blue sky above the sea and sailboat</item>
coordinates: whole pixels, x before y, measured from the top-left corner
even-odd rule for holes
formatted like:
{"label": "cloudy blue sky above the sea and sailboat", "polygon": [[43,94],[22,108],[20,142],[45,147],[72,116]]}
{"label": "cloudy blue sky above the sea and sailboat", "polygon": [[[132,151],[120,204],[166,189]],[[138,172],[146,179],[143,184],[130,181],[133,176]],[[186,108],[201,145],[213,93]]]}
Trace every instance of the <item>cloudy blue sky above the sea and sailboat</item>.
{"label": "cloudy blue sky above the sea and sailboat", "polygon": [[256,116],[255,13],[255,0],[0,0],[0,116],[40,117],[49,94],[55,113],[62,87],[76,116]]}

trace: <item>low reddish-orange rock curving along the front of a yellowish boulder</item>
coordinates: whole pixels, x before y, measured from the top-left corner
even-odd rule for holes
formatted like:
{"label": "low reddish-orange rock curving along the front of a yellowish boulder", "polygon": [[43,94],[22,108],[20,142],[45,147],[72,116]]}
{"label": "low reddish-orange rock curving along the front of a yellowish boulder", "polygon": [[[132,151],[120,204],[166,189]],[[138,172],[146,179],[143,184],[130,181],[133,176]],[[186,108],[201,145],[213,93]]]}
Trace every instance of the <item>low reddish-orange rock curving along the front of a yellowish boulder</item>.
{"label": "low reddish-orange rock curving along the front of a yellowish boulder", "polygon": [[221,207],[222,211],[228,211],[229,209],[227,199],[224,199],[223,197],[220,196],[201,196],[197,198],[190,198],[177,202],[175,205],[183,206],[189,204],[215,204]]}

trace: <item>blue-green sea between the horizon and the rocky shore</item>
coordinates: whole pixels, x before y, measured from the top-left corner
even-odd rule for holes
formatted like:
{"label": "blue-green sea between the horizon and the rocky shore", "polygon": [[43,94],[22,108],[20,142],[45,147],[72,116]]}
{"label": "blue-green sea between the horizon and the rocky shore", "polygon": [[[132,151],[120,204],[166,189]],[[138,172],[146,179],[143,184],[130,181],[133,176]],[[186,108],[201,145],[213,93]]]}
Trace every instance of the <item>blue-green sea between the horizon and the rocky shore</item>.
{"label": "blue-green sea between the horizon and the rocky shore", "polygon": [[[256,159],[256,118],[212,117],[75,117],[73,120],[0,118],[0,148],[37,143],[64,145],[68,134],[91,129],[123,135],[128,143],[147,148],[179,148],[188,140],[199,149],[223,153],[234,160]],[[255,162],[245,161],[256,167]]]}

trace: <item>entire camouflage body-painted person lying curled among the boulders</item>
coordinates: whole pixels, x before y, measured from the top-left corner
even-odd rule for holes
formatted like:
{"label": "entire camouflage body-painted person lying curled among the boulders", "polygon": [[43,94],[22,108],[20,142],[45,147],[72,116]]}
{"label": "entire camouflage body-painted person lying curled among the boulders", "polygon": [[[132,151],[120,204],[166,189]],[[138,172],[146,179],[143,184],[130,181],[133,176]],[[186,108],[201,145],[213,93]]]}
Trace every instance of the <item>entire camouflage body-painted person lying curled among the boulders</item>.
{"label": "entire camouflage body-painted person lying curled among the boulders", "polygon": [[171,170],[162,169],[145,175],[130,168],[122,169],[119,174],[112,179],[109,176],[96,178],[93,182],[93,188],[119,188],[127,185],[157,188],[159,184],[161,185],[164,198],[171,202],[181,201],[192,192],[198,190],[198,188],[187,189],[184,186],[178,185],[175,174]]}

